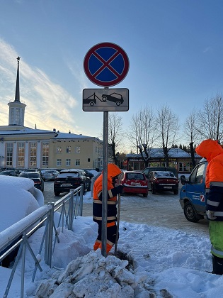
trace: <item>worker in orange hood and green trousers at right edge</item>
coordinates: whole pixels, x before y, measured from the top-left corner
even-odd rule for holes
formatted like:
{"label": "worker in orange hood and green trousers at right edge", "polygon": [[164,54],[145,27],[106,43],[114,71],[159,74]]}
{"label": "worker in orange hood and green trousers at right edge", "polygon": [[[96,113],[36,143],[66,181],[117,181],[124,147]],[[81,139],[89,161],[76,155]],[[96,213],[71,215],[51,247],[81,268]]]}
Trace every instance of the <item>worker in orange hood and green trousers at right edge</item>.
{"label": "worker in orange hood and green trousers at right edge", "polygon": [[203,140],[196,148],[202,158],[206,158],[205,178],[206,213],[212,244],[212,265],[217,275],[223,275],[223,150],[217,140]]}

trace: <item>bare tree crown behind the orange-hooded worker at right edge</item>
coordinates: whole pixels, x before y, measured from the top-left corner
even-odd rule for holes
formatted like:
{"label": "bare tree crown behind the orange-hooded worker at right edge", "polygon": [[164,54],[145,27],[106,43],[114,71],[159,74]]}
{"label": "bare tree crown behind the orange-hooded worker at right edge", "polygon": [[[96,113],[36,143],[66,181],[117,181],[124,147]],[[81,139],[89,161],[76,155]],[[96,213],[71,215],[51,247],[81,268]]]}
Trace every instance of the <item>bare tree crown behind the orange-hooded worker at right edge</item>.
{"label": "bare tree crown behind the orange-hooded worker at right edge", "polygon": [[223,100],[222,95],[205,100],[202,110],[198,111],[197,131],[200,138],[223,139]]}

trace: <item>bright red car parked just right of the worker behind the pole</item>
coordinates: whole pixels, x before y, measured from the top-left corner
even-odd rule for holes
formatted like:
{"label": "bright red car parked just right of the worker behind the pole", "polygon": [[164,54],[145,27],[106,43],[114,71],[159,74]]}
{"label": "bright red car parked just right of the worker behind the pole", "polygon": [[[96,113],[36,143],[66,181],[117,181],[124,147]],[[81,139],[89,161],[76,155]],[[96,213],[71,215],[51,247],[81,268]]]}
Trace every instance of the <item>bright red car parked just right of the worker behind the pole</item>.
{"label": "bright red car parked just right of the worker behind the pole", "polygon": [[148,196],[148,182],[142,172],[124,172],[121,184],[124,186],[122,193],[142,194],[143,197]]}

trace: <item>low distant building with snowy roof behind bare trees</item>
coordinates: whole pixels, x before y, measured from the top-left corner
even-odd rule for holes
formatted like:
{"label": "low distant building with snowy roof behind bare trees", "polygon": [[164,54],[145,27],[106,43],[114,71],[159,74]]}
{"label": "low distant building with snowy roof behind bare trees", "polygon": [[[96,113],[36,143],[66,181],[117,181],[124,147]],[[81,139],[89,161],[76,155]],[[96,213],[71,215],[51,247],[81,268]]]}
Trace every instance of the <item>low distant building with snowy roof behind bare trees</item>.
{"label": "low distant building with snowy roof behind bare trees", "polygon": [[[193,170],[193,164],[189,153],[180,148],[171,148],[168,151],[169,167],[176,167],[179,173],[189,173]],[[196,162],[201,157],[195,154]],[[126,170],[144,170],[144,161],[140,154],[127,154],[126,160],[123,162]],[[164,151],[162,148],[151,148],[149,150],[149,167],[166,167],[164,159]]]}

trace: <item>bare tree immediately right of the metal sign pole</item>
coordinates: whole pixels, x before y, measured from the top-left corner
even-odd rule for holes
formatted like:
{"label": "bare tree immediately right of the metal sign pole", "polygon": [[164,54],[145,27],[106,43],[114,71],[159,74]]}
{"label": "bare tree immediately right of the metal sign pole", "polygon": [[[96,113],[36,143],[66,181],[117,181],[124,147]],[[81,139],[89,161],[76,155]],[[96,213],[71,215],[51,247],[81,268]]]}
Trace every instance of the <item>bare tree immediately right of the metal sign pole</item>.
{"label": "bare tree immediately right of the metal sign pole", "polygon": [[115,165],[118,165],[119,148],[123,141],[122,117],[117,113],[110,113],[108,116],[108,157],[113,158]]}

